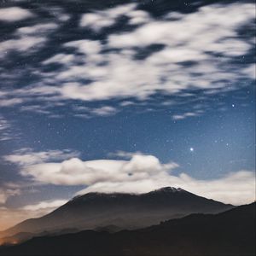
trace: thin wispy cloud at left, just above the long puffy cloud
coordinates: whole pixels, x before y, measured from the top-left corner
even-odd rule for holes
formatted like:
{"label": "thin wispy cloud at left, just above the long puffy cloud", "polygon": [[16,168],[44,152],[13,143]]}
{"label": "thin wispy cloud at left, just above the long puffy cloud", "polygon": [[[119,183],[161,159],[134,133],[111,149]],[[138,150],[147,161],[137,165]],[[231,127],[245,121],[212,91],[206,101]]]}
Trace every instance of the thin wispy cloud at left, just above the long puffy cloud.
{"label": "thin wispy cloud at left, just above the long puffy cloud", "polygon": [[49,160],[65,160],[76,156],[79,156],[79,152],[70,149],[34,152],[32,148],[20,148],[15,150],[14,154],[4,155],[3,160],[20,166],[27,166]]}

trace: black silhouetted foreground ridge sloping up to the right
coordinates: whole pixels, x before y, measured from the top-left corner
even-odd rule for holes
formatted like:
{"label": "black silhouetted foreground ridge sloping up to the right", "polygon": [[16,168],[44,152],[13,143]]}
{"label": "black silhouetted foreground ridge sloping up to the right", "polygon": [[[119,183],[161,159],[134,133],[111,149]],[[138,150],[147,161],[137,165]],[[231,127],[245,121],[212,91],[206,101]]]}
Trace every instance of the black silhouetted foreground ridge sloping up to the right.
{"label": "black silhouetted foreground ridge sloping up to the right", "polygon": [[218,214],[191,214],[141,230],[86,230],[32,238],[0,255],[255,255],[256,204]]}

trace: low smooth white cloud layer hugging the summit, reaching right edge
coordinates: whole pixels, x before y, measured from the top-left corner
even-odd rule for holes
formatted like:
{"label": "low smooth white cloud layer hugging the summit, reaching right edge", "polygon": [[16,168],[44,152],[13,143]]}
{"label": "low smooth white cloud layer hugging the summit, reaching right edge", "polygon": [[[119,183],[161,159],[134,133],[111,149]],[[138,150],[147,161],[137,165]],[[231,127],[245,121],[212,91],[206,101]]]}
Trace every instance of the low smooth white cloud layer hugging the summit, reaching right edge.
{"label": "low smooth white cloud layer hugging the summit, reaching right edge", "polygon": [[255,200],[255,174],[247,171],[230,173],[213,180],[198,180],[185,173],[179,176],[160,173],[143,180],[95,183],[79,191],[78,195],[92,191],[145,193],[166,186],[182,188],[196,195],[234,205],[251,203]]}

